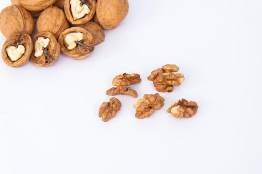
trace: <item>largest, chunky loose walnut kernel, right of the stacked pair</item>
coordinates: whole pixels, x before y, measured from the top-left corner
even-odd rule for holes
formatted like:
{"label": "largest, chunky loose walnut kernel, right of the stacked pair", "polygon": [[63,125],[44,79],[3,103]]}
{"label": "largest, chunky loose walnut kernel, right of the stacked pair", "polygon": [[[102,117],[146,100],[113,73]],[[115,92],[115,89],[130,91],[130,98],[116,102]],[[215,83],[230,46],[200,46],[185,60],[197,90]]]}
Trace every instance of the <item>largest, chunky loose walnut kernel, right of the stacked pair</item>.
{"label": "largest, chunky loose walnut kernel, right of the stacked pair", "polygon": [[151,72],[148,76],[149,81],[153,81],[154,87],[159,92],[172,92],[174,86],[179,87],[185,77],[183,74],[174,73],[178,72],[179,68],[176,65],[165,65]]}

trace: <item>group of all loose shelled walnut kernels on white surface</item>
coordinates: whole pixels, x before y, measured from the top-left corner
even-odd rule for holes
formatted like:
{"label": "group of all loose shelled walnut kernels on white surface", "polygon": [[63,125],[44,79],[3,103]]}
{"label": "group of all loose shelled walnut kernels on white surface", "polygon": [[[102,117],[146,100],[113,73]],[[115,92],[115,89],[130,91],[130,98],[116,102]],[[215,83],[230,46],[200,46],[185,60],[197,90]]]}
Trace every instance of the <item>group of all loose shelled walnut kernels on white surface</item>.
{"label": "group of all loose shelled walnut kernels on white surface", "polygon": [[[156,90],[159,92],[172,92],[174,86],[180,86],[184,81],[183,74],[175,74],[178,72],[179,67],[174,64],[167,64],[162,68],[151,72],[151,75],[147,78],[149,81],[153,81]],[[127,86],[134,85],[141,82],[139,74],[127,74],[116,76],[112,84],[116,87],[112,87],[106,91],[107,95],[130,95],[137,97],[137,92]],[[136,109],[135,117],[143,119],[149,117],[155,110],[161,109],[164,105],[165,99],[155,94],[145,94],[143,98],[138,99],[134,104]],[[120,110],[121,102],[115,98],[110,98],[109,102],[103,102],[99,108],[99,117],[102,117],[103,121],[108,121],[116,115],[116,112]],[[198,105],[195,101],[187,101],[182,98],[181,100],[174,101],[171,107],[167,109],[168,113],[176,118],[190,118],[198,110]]]}

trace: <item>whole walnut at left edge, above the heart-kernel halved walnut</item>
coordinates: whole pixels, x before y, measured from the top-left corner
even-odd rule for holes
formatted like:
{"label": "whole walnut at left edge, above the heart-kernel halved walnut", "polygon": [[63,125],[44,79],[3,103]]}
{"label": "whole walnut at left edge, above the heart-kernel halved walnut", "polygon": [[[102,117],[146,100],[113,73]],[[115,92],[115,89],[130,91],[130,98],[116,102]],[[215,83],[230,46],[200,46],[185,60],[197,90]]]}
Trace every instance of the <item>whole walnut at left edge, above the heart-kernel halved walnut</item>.
{"label": "whole walnut at left edge, above the heart-kernel halved walnut", "polygon": [[9,38],[11,35],[20,32],[31,35],[33,29],[33,18],[23,7],[11,5],[2,9],[0,13],[0,30],[4,37]]}

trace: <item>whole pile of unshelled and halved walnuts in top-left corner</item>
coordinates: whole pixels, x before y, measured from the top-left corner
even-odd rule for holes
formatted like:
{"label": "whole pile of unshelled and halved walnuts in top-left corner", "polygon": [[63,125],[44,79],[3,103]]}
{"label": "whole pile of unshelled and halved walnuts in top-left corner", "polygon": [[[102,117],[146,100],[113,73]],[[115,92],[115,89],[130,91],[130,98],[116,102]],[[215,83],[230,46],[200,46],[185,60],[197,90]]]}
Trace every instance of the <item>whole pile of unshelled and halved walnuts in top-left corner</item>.
{"label": "whole pile of unshelled and halved walnuts in top-left corner", "polygon": [[[29,60],[49,67],[60,51],[76,60],[88,57],[103,42],[103,29],[117,27],[129,9],[127,0],[11,0],[0,13],[6,41],[2,59],[11,67]],[[31,38],[36,20],[37,33]]]}

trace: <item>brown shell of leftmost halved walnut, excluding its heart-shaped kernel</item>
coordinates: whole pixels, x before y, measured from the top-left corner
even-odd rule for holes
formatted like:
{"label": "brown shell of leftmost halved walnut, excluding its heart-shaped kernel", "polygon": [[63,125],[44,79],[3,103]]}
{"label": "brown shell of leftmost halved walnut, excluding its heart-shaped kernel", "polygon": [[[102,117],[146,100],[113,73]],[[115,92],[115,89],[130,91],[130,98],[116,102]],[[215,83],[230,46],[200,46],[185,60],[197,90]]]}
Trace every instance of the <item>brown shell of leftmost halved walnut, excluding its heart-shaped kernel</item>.
{"label": "brown shell of leftmost halved walnut, excluding its heart-shaped kernel", "polygon": [[[9,46],[23,45],[25,48],[24,54],[16,61],[11,61],[6,53],[6,48]],[[30,59],[30,55],[33,50],[31,37],[26,33],[13,34],[3,44],[2,47],[2,59],[10,67],[21,67],[27,63]]]}

